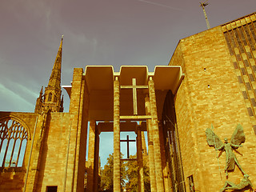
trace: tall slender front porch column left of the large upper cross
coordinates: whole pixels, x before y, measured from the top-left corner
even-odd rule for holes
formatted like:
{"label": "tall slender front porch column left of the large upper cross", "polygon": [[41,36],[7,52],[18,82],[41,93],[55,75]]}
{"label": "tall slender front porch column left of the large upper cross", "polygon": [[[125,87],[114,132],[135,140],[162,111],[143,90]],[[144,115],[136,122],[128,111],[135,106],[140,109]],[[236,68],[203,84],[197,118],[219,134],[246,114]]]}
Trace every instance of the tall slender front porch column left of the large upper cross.
{"label": "tall slender front porch column left of the large upper cross", "polygon": [[114,191],[121,191],[120,162],[120,84],[114,79]]}

